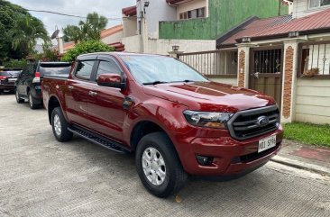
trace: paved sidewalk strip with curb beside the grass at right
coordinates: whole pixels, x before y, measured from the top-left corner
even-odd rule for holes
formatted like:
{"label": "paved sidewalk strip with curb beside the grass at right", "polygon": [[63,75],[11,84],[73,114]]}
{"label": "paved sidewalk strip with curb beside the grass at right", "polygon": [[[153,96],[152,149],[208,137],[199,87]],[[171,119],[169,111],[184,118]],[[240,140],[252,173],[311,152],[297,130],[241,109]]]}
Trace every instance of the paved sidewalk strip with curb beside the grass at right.
{"label": "paved sidewalk strip with curb beside the grass at right", "polygon": [[274,162],[330,176],[330,149],[283,140]]}

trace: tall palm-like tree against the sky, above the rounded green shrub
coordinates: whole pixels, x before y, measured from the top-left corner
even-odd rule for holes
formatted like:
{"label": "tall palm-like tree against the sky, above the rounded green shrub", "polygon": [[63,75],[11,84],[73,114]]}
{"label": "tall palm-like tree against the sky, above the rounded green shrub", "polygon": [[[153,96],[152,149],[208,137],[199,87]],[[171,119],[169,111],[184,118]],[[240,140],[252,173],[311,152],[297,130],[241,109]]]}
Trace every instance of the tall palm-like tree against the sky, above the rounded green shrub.
{"label": "tall palm-like tree against the sky, above the rounded green shrub", "polygon": [[101,31],[105,29],[107,19],[97,13],[87,14],[86,21],[79,21],[78,26],[68,25],[63,28],[63,41],[100,40]]}

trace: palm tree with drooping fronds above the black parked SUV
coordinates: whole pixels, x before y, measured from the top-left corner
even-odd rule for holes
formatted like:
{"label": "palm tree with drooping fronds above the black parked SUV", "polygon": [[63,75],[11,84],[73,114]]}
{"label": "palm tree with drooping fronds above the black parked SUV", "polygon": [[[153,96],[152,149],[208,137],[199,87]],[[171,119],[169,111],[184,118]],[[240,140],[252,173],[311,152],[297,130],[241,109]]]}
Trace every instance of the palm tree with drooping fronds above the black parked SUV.
{"label": "palm tree with drooping fronds above the black parked SUV", "polygon": [[17,50],[19,47],[32,51],[37,39],[49,40],[47,32],[40,20],[30,14],[19,15],[14,22],[12,30],[12,47]]}

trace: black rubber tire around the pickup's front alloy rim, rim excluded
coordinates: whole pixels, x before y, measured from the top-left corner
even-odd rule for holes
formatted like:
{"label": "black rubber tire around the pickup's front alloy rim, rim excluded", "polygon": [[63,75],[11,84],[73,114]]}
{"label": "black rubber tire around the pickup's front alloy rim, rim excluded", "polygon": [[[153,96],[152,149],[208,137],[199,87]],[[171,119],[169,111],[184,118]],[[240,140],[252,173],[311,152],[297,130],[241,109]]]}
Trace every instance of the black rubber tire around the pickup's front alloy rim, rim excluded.
{"label": "black rubber tire around the pickup's front alloy rim, rim excluded", "polygon": [[[154,185],[148,180],[142,167],[142,156],[149,148],[159,151],[164,159],[166,173],[164,181],[160,185]],[[153,195],[158,197],[168,197],[176,194],[186,184],[188,175],[184,171],[178,153],[174,149],[170,138],[163,132],[152,132],[144,136],[136,149],[135,164],[138,175],[144,187]]]}

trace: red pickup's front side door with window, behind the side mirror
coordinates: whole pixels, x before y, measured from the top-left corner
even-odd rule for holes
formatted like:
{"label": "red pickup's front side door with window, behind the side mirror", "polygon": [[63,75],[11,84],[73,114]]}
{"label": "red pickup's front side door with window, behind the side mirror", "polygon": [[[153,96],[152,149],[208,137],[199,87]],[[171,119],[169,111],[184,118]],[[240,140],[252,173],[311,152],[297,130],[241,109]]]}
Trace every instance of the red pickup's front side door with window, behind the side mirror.
{"label": "red pickup's front side door with window, behind the side mirror", "polygon": [[[102,74],[114,73],[121,75],[124,79],[123,69],[119,63],[108,56],[99,56],[96,74],[92,77],[94,81]],[[124,94],[120,88],[97,86],[93,84],[90,89],[94,95],[89,95],[88,115],[90,126],[94,131],[104,134],[117,141],[123,139],[124,124]]]}

